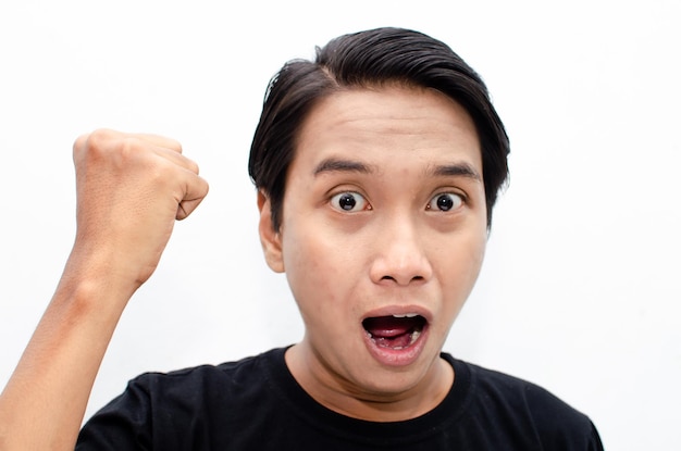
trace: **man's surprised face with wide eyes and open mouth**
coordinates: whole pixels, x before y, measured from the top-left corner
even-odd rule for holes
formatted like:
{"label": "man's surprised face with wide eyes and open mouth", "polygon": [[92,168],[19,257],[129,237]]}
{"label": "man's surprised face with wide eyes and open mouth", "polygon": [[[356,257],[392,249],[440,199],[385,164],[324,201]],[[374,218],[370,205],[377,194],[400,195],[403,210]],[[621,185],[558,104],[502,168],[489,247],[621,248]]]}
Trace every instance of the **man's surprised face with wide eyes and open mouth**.
{"label": "man's surprised face with wide eyes and open mouth", "polygon": [[306,327],[304,388],[382,399],[432,379],[487,236],[468,113],[433,90],[334,93],[300,129],[278,234],[260,206]]}

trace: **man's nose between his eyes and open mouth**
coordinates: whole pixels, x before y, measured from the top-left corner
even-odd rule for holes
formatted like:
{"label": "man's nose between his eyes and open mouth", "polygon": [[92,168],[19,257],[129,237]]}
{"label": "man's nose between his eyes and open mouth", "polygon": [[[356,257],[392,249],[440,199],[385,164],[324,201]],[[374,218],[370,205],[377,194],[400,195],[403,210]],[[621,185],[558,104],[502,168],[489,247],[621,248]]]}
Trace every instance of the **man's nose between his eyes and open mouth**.
{"label": "man's nose between his eyes and open mouth", "polygon": [[375,284],[408,286],[422,284],[433,276],[433,268],[418,227],[407,218],[396,218],[381,227],[371,265]]}

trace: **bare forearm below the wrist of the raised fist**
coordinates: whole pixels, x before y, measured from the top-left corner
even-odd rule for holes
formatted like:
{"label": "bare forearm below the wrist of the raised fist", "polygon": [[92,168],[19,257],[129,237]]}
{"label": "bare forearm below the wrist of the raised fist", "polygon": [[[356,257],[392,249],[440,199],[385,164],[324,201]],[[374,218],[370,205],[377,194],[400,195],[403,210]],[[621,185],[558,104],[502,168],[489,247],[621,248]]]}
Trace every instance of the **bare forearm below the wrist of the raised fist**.
{"label": "bare forearm below the wrist of the raised fist", "polygon": [[74,449],[101,360],[133,292],[104,268],[70,260],[0,396],[0,449]]}

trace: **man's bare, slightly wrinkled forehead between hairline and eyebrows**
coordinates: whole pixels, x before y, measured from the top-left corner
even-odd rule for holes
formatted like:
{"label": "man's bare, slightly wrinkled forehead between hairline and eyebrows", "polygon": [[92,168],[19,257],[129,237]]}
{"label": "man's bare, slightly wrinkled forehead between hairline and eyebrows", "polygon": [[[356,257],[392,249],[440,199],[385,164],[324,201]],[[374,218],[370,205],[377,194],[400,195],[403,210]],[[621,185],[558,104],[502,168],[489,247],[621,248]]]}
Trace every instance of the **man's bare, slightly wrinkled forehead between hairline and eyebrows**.
{"label": "man's bare, slightly wrinkled forehead between hairline and eyebrows", "polygon": [[385,159],[422,164],[460,160],[482,173],[472,118],[434,89],[391,85],[334,92],[312,108],[296,141],[294,166],[348,156],[376,164]]}

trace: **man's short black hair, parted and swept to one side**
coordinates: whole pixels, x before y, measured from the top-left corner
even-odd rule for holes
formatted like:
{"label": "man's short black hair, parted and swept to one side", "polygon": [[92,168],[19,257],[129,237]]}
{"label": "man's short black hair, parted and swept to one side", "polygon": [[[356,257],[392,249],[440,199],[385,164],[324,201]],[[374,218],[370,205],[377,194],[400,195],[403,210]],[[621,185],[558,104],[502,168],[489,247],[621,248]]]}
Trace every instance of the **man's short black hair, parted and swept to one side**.
{"label": "man's short black hair, parted and swept to one side", "polygon": [[249,175],[270,199],[272,227],[282,222],[286,176],[300,127],[312,107],[340,89],[403,83],[436,89],[470,114],[481,145],[487,228],[508,177],[510,151],[504,124],[485,84],[447,45],[405,28],[375,28],[332,39],[314,61],[293,60],[272,77],[256,128]]}

